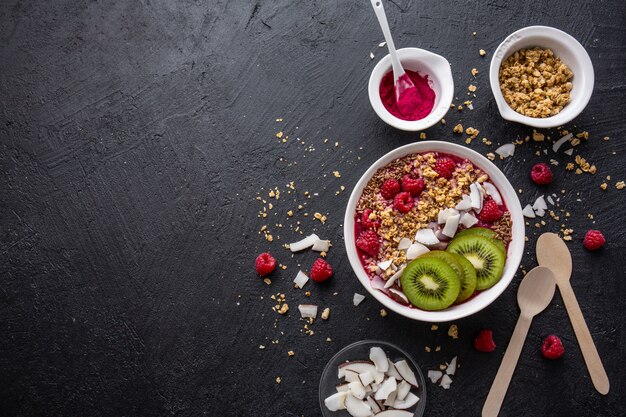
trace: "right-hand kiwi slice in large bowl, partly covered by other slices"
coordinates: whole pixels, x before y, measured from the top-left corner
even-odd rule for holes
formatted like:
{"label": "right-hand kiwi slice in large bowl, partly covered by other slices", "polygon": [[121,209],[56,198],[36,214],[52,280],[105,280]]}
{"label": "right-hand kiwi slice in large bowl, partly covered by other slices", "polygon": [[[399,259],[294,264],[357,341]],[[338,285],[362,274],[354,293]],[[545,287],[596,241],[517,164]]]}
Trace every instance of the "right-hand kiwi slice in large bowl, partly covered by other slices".
{"label": "right-hand kiwi slice in large bowl, partly covered by other slices", "polygon": [[476,269],[476,289],[491,288],[502,278],[506,255],[489,238],[466,235],[452,239],[448,252],[463,255]]}

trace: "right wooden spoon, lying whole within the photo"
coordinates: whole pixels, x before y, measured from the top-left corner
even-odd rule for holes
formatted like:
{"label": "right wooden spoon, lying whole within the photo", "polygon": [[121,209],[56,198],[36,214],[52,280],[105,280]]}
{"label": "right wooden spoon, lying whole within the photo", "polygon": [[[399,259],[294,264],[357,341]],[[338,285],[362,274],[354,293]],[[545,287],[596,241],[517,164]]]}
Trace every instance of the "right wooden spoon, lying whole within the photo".
{"label": "right wooden spoon, lying whole within the photo", "polygon": [[537,240],[537,261],[539,265],[550,268],[554,274],[593,386],[600,394],[608,394],[609,377],[604,370],[602,360],[600,360],[600,355],[598,355],[598,350],[593,343],[591,333],[589,333],[589,328],[569,282],[572,276],[572,256],[567,245],[554,233],[542,234]]}

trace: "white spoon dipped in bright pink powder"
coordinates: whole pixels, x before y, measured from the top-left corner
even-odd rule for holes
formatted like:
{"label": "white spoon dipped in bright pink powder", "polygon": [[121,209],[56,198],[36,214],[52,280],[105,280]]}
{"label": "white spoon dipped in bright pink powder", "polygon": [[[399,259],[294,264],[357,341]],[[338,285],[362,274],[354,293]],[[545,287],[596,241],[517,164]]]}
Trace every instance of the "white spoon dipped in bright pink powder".
{"label": "white spoon dipped in bright pink powder", "polygon": [[[413,84],[413,81],[406,75],[404,68],[402,68],[402,64],[400,63],[400,59],[398,59],[398,54],[396,53],[396,46],[393,43],[393,38],[391,37],[391,31],[389,30],[389,23],[387,22],[387,15],[385,14],[385,8],[383,7],[382,0],[370,0],[372,3],[372,7],[374,8],[374,13],[376,13],[376,17],[378,18],[378,24],[380,25],[380,29],[383,31],[383,36],[385,37],[385,42],[387,42],[387,48],[389,49],[389,56],[391,57],[391,66],[393,68],[393,82],[394,82],[394,90],[396,92],[396,102],[398,103],[398,110],[403,115],[409,115],[415,111],[416,104],[415,100],[413,102],[407,101],[406,103],[400,101],[400,98],[411,94],[419,97],[419,92]],[[402,104],[402,105],[401,105]]]}

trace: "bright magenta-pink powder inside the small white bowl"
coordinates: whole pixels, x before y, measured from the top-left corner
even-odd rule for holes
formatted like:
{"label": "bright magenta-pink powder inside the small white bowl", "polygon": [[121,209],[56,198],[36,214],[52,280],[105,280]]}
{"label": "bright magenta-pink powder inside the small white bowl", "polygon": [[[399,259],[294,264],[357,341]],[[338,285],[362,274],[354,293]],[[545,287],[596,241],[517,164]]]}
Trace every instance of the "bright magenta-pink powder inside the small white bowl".
{"label": "bright magenta-pink powder inside the small white bowl", "polygon": [[415,88],[405,90],[396,100],[393,71],[389,71],[380,83],[380,99],[383,105],[398,119],[420,120],[428,116],[435,105],[435,92],[428,84],[428,75],[421,76],[415,71],[405,70]]}

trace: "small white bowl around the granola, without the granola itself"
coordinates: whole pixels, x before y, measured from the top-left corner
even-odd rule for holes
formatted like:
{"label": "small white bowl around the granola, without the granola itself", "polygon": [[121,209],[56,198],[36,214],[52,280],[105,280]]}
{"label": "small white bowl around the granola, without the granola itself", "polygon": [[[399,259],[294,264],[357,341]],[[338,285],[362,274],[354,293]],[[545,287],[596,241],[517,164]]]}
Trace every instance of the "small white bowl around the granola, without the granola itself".
{"label": "small white bowl around the granola, without the granola itself", "polygon": [[[516,112],[504,100],[500,90],[498,73],[502,61],[520,49],[536,46],[552,49],[552,52],[574,73],[569,103],[557,115],[551,117],[528,117]],[[587,106],[593,92],[593,65],[585,48],[572,36],[549,26],[528,26],[510,34],[498,46],[491,58],[489,82],[504,119],[537,128],[551,128],[563,126],[573,120]]]}

